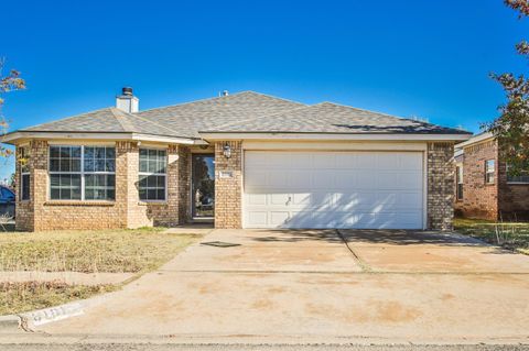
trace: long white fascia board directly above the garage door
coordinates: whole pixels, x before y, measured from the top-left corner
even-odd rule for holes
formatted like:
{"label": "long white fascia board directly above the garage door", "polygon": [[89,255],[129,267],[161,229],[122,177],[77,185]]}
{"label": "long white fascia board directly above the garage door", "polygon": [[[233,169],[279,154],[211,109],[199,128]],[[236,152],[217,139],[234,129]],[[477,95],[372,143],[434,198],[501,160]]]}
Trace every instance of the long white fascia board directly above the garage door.
{"label": "long white fascia board directly above the garage door", "polygon": [[199,133],[205,140],[465,141],[469,134]]}

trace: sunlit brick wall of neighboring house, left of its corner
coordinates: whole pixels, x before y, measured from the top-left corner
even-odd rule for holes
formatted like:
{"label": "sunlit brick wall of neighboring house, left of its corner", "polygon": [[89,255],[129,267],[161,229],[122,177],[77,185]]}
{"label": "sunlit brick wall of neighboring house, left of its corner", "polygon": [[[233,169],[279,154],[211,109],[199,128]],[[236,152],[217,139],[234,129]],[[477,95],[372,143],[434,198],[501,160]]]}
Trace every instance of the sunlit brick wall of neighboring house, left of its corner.
{"label": "sunlit brick wall of neighboring house, left of its corner", "polygon": [[[487,160],[496,162],[496,182],[494,184],[485,184],[485,161]],[[487,141],[464,149],[463,199],[456,200],[454,207],[457,216],[498,219],[498,147],[496,141]]]}

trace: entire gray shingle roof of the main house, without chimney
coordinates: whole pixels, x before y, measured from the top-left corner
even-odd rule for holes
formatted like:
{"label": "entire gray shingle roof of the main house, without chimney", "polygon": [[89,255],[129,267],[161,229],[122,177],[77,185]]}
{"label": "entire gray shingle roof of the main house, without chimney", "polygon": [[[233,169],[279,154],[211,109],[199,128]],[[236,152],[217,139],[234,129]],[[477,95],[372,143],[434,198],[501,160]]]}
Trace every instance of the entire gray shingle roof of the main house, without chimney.
{"label": "entire gray shingle roof of the main house, without chimney", "polygon": [[137,113],[106,108],[19,132],[126,132],[187,139],[201,139],[201,132],[469,134],[331,102],[306,106],[253,91]]}

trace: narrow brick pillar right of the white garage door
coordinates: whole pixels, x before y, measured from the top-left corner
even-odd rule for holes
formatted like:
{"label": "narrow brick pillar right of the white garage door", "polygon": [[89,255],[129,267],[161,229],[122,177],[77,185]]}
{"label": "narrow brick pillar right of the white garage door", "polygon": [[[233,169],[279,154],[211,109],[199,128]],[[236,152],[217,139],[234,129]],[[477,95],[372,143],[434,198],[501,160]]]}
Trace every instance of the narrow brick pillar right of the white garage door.
{"label": "narrow brick pillar right of the white garage door", "polygon": [[428,144],[428,228],[452,230],[454,217],[454,144]]}

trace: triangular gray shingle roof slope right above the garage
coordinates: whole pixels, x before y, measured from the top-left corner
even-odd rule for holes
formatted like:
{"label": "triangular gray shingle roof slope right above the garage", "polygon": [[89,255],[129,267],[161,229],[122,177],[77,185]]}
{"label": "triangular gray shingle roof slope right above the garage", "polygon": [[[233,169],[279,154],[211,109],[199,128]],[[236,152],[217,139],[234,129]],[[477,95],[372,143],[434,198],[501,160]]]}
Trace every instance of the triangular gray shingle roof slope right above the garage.
{"label": "triangular gray shingle roof slope right above the garage", "polygon": [[300,107],[267,116],[246,119],[202,132],[283,132],[283,133],[411,133],[467,134],[422,121],[398,118],[332,102]]}

